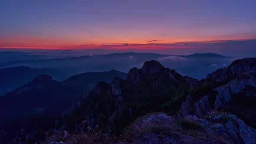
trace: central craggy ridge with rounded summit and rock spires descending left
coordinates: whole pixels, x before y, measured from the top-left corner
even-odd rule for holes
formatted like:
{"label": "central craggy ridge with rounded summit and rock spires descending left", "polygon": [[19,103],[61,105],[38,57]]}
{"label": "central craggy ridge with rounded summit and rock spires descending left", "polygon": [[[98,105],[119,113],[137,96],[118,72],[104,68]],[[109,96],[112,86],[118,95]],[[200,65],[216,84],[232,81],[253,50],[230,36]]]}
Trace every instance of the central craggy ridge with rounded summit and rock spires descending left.
{"label": "central craggy ridge with rounded summit and rock spires descending left", "polygon": [[[159,98],[158,93],[152,93],[157,90],[154,88],[162,89],[164,86],[175,89],[180,84],[189,88],[190,83],[193,82],[197,81],[190,77],[183,77],[172,69],[164,68],[157,61],[148,61],[141,69],[131,69],[127,79],[116,77],[109,84],[98,82],[81,101],[84,105],[82,107],[86,109],[82,110],[75,103],[63,111],[62,118],[66,124],[68,123],[66,119],[69,119],[68,115],[77,117],[74,114],[76,111],[75,113],[82,113],[86,121],[79,125],[95,127],[96,125],[111,124],[113,127],[123,128],[134,120],[136,115],[150,111],[150,109],[144,109],[144,105],[152,102],[149,97]],[[160,95],[160,97],[162,96],[164,95]]]}

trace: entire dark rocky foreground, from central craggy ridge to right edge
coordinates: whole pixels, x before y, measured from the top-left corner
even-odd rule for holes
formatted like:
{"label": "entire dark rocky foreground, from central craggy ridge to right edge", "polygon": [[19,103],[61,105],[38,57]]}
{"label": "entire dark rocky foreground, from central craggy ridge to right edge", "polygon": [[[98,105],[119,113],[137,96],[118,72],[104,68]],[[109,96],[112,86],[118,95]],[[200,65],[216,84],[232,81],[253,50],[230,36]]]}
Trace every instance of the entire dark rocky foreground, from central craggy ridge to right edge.
{"label": "entire dark rocky foreground, from central craggy ridge to right edge", "polygon": [[149,61],[127,79],[99,82],[59,118],[15,141],[256,144],[255,103],[256,58],[236,60],[200,81]]}

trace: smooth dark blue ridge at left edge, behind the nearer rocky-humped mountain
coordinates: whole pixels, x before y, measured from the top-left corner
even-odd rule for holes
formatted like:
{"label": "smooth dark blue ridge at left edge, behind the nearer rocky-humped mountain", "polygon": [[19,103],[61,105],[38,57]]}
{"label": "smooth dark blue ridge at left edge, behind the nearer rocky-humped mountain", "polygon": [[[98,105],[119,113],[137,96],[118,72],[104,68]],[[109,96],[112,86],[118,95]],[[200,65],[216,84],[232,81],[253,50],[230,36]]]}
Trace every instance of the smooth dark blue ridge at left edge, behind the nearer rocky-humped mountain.
{"label": "smooth dark blue ridge at left edge, behind the nearer rocky-humped mountain", "polygon": [[27,66],[16,66],[0,69],[0,96],[32,81],[37,75],[52,75],[56,80],[62,80],[67,75],[58,69],[34,69]]}

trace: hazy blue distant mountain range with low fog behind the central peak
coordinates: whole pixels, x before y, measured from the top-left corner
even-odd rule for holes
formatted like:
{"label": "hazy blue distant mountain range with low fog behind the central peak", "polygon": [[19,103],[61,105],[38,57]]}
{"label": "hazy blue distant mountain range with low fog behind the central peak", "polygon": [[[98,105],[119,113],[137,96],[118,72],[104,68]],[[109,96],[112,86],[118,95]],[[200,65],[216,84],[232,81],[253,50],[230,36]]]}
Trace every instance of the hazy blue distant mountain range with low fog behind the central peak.
{"label": "hazy blue distant mountain range with low fog behind the central peak", "polygon": [[54,68],[71,76],[83,72],[102,72],[109,71],[111,69],[128,72],[133,67],[141,67],[145,61],[149,60],[157,60],[165,67],[177,70],[181,75],[202,79],[208,73],[215,71],[216,69],[223,68],[225,65],[229,65],[234,59],[215,53],[181,56],[125,52],[105,55],[72,56],[69,58],[61,57],[35,60],[23,59],[22,61],[13,60],[0,63],[0,68],[19,65],[25,65],[33,68]]}

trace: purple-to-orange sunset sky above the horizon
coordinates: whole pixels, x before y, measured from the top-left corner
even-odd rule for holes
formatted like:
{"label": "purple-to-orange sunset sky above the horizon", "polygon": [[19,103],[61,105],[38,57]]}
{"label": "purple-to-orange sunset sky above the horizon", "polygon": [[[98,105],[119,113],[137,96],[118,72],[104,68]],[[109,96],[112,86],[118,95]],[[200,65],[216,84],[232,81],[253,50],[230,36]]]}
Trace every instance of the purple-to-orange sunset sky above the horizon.
{"label": "purple-to-orange sunset sky above the horizon", "polygon": [[256,0],[0,0],[1,48],[189,48],[248,39],[256,39]]}

